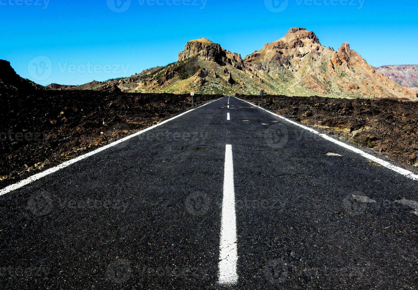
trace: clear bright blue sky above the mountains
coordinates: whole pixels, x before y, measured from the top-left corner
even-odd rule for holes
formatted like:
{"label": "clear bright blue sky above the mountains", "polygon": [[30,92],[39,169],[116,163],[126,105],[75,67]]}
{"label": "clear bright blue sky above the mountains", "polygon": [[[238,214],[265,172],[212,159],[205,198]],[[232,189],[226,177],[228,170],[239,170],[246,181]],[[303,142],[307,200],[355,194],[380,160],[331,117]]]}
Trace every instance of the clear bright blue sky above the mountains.
{"label": "clear bright blue sky above the mountains", "polygon": [[349,42],[374,66],[418,64],[412,0],[116,1],[120,10],[115,0],[0,0],[0,58],[43,85],[81,84],[174,62],[187,40],[205,37],[244,57],[301,26],[322,45]]}

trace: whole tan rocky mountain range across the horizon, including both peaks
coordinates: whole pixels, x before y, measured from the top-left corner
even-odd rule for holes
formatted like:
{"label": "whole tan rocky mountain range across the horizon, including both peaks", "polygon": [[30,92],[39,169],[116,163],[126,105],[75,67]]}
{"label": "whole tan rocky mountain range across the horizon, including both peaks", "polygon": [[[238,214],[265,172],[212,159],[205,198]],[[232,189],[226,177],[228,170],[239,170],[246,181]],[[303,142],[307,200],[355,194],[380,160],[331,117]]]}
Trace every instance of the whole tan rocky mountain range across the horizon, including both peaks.
{"label": "whole tan rocky mountain range across the horizon, including both peaks", "polygon": [[[402,83],[402,82],[401,82]],[[204,94],[267,94],[347,98],[417,99],[418,90],[383,76],[343,43],[338,51],[325,47],[305,28],[288,30],[242,58],[206,38],[191,40],[178,60],[139,74],[80,86],[51,84],[51,89],[113,92]]]}

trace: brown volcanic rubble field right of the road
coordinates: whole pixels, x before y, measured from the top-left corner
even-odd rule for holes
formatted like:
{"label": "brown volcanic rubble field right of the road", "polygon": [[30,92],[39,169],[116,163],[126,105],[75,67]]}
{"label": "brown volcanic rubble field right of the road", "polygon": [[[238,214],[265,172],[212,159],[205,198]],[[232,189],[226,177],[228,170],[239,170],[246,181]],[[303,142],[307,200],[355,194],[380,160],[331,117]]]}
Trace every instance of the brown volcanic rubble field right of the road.
{"label": "brown volcanic rubble field right of the road", "polygon": [[[260,96],[237,97],[260,105]],[[402,164],[418,166],[418,102],[265,96],[263,107]]]}

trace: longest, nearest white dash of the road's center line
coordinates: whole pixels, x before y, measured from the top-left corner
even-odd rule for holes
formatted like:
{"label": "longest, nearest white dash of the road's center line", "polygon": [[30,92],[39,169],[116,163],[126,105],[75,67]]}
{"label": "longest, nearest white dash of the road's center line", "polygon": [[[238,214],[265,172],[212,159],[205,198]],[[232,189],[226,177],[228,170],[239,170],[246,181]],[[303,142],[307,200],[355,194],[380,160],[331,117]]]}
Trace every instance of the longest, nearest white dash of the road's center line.
{"label": "longest, nearest white dash of the road's center line", "polygon": [[232,145],[225,148],[224,198],[219,242],[219,284],[237,283],[237,222],[235,217],[234,165]]}

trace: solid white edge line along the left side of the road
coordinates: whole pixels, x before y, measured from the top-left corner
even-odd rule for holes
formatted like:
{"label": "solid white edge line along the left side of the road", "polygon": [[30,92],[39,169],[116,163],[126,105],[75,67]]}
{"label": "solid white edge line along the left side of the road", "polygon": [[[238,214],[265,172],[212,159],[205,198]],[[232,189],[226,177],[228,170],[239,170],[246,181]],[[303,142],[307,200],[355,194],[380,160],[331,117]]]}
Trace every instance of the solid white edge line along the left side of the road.
{"label": "solid white edge line along the left side of the road", "polygon": [[[218,100],[219,100],[219,99],[214,100],[214,101],[218,101]],[[11,192],[11,191],[13,191],[13,190],[19,189],[20,187],[23,187],[23,186],[25,186],[25,185],[27,185],[27,184],[30,184],[30,183],[32,183],[32,182],[34,182],[34,181],[38,180],[38,179],[41,179],[42,177],[45,177],[45,176],[47,176],[47,175],[49,175],[49,174],[52,174],[52,173],[54,173],[54,172],[56,172],[56,171],[58,171],[58,170],[60,170],[60,169],[63,169],[63,168],[65,168],[65,167],[67,167],[67,166],[70,166],[71,164],[74,164],[74,163],[76,163],[76,162],[78,162],[78,161],[80,161],[80,160],[86,159],[87,157],[90,157],[90,156],[92,156],[92,155],[94,155],[94,154],[97,154],[97,153],[99,153],[99,152],[101,152],[101,151],[104,151],[104,150],[106,150],[106,149],[108,149],[108,148],[110,148],[110,147],[116,146],[117,144],[120,144],[120,143],[122,143],[122,142],[125,142],[125,141],[127,141],[127,140],[129,140],[129,139],[131,139],[131,138],[133,138],[133,137],[136,137],[136,136],[138,136],[138,135],[140,135],[140,134],[143,134],[143,133],[145,133],[145,132],[147,132],[147,131],[149,131],[149,130],[151,130],[151,129],[154,129],[154,128],[158,127],[158,126],[161,126],[161,125],[163,125],[163,124],[166,124],[166,123],[167,123],[167,122],[169,122],[169,121],[172,121],[172,120],[174,120],[174,119],[176,119],[176,118],[178,118],[178,117],[180,117],[180,116],[183,116],[183,115],[184,115],[184,114],[186,114],[186,113],[190,113],[191,111],[194,111],[194,110],[196,110],[196,109],[198,109],[198,108],[201,108],[201,107],[203,107],[203,106],[206,106],[206,105],[208,105],[208,104],[210,104],[210,103],[212,103],[212,102],[214,102],[214,101],[210,101],[209,103],[206,103],[206,104],[204,104],[204,105],[202,105],[202,106],[200,106],[200,107],[193,108],[193,109],[191,109],[191,110],[189,110],[189,111],[183,112],[183,113],[181,113],[181,114],[179,114],[179,115],[177,115],[177,116],[174,116],[173,118],[170,118],[170,119],[168,119],[168,120],[162,121],[161,123],[155,124],[155,125],[153,125],[153,126],[151,126],[151,127],[148,127],[148,128],[146,128],[146,129],[143,129],[142,131],[136,132],[136,133],[134,133],[134,134],[132,134],[132,135],[126,136],[126,137],[124,137],[124,138],[122,138],[122,139],[119,139],[119,140],[117,140],[117,141],[115,141],[115,142],[112,142],[112,143],[110,143],[110,144],[104,145],[104,146],[102,146],[102,147],[100,147],[100,148],[97,148],[97,149],[95,149],[95,150],[93,150],[93,151],[91,151],[91,152],[89,152],[89,153],[86,153],[86,154],[81,155],[81,156],[78,156],[78,157],[76,157],[76,158],[74,158],[74,159],[71,159],[71,160],[65,161],[64,163],[61,163],[61,164],[59,164],[59,165],[57,165],[57,166],[54,166],[54,167],[52,167],[52,168],[50,168],[50,169],[47,169],[47,170],[45,170],[45,171],[39,172],[39,173],[37,173],[37,174],[35,174],[35,175],[32,175],[31,177],[28,177],[28,178],[26,178],[26,179],[23,179],[23,180],[21,180],[21,181],[20,181],[20,182],[18,182],[18,183],[11,184],[11,185],[9,185],[8,187],[5,187],[5,188],[3,188],[3,189],[1,189],[1,190],[0,190],[0,196],[2,196],[3,194],[7,194],[7,193],[9,193],[9,192]]]}

